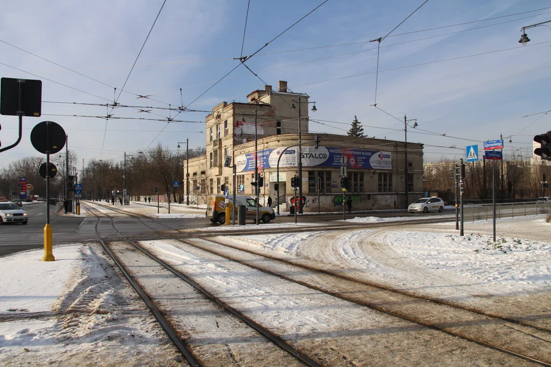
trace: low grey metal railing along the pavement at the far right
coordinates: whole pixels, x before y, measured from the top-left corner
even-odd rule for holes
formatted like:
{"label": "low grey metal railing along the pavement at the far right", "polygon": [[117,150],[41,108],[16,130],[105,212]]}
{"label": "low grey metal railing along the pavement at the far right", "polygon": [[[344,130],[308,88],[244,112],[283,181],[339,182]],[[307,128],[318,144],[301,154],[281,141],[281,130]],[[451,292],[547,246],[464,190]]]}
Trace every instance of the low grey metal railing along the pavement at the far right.
{"label": "low grey metal railing along the pavement at the far right", "polygon": [[[516,202],[495,205],[495,217],[498,219],[549,213],[551,213],[551,204],[548,202]],[[494,210],[491,205],[467,206],[463,220],[465,222],[487,221],[491,220],[493,215]]]}

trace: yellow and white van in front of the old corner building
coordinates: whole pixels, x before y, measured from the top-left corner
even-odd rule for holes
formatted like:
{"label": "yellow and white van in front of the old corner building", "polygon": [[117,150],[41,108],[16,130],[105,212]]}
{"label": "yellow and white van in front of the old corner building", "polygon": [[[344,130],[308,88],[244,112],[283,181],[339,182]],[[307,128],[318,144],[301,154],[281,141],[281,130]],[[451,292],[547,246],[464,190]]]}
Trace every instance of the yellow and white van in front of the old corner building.
{"label": "yellow and white van in front of the old corner building", "polygon": [[[227,205],[230,206],[230,213],[233,211],[233,195],[230,195]],[[256,200],[251,196],[236,195],[235,196],[235,215],[237,216],[237,208],[240,205],[246,206],[245,218],[256,220]],[[269,223],[272,219],[276,219],[276,212],[271,207],[258,207],[258,218],[264,223]],[[224,195],[210,195],[207,198],[206,217],[213,223],[224,224],[226,221],[226,197]]]}

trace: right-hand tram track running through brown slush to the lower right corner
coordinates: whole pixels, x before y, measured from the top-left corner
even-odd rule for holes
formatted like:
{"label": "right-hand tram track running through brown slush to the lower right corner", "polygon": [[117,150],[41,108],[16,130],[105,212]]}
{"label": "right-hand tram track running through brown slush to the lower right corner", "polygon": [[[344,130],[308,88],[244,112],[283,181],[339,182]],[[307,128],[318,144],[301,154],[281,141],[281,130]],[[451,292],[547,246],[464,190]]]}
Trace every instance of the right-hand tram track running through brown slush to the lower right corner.
{"label": "right-hand tram track running through brown slush to the lower right corner", "polygon": [[[140,219],[139,215],[135,217]],[[149,217],[147,217],[149,218]],[[419,221],[416,221],[419,223]],[[144,223],[145,224],[145,223]],[[382,223],[377,223],[382,224]],[[385,223],[388,226],[390,223]],[[402,224],[402,223],[392,223],[392,225]],[[410,224],[410,223],[408,223]],[[147,224],[145,224],[147,225]],[[403,224],[402,224],[403,225]],[[148,226],[149,227],[149,226]],[[354,229],[357,226],[350,226]],[[365,224],[361,226],[362,229],[366,229]],[[372,227],[372,226],[369,226]],[[378,227],[378,226],[377,226]],[[150,227],[152,228],[152,227]],[[153,228],[152,228],[153,229]],[[305,231],[315,230],[314,228],[301,228]],[[328,229],[327,226],[323,227],[325,231]],[[236,231],[235,231],[236,232]],[[285,232],[290,232],[289,230]],[[255,232],[257,233],[257,232]],[[277,233],[277,232],[276,232]],[[164,233],[168,234],[168,233]],[[217,233],[228,234],[228,233]],[[239,231],[235,234],[249,234]],[[547,328],[538,327],[532,325],[528,322],[522,320],[511,319],[510,317],[501,317],[499,315],[485,313],[482,310],[468,308],[465,306],[460,306],[451,302],[446,302],[439,299],[432,299],[429,297],[424,297],[420,295],[410,294],[409,292],[404,292],[399,289],[393,289],[391,287],[381,286],[381,284],[375,284],[371,282],[366,282],[363,280],[358,280],[353,277],[346,275],[338,274],[333,271],[327,271],[321,269],[320,267],[305,265],[299,261],[289,261],[277,256],[271,256],[258,251],[252,251],[250,249],[245,249],[231,245],[228,243],[222,243],[211,238],[201,236],[199,233],[196,233],[194,236],[196,240],[190,238],[181,238],[180,236],[172,236],[171,239],[177,240],[178,242],[192,247],[208,251],[209,253],[222,256],[223,258],[239,262],[242,265],[252,267],[253,269],[269,273],[273,276],[277,276],[287,281],[295,282],[301,284],[302,286],[315,289],[334,297],[353,302],[358,305],[366,306],[370,309],[385,313],[387,315],[399,317],[400,319],[414,322],[415,324],[422,325],[424,327],[432,328],[440,332],[444,332],[448,335],[462,338],[469,342],[479,344],[480,346],[491,348],[497,350],[498,352],[512,355],[516,358],[520,358],[531,363],[536,363],[543,366],[551,366],[551,353],[549,353],[551,338],[549,333],[551,330]],[[198,241],[201,241],[198,243]],[[206,243],[214,244],[218,248],[214,248],[212,245],[206,245]],[[322,277],[323,281],[318,282],[317,284],[312,283],[311,281],[304,281],[297,279],[296,277],[291,277],[284,275],[282,272],[277,270],[268,270],[266,269],[265,264],[263,266],[258,266],[253,260],[244,260],[242,257],[234,254],[228,254],[227,250],[222,250],[220,247],[230,248],[233,251],[239,251],[241,253],[247,253],[253,256],[260,256],[263,259],[269,259],[279,264],[285,264],[286,266],[292,266],[299,268],[302,272],[310,271],[313,272],[316,277]],[[231,252],[231,251],[230,251]],[[258,263],[258,261],[256,261]],[[287,273],[293,273],[293,271],[287,271]],[[343,282],[347,287],[343,287]],[[340,285],[339,285],[340,283]],[[328,286],[331,284],[331,287]],[[351,289],[355,294],[377,294],[377,300],[370,300],[363,297],[352,297],[350,295]],[[381,292],[386,293],[387,300],[381,300]],[[390,295],[390,297],[388,297]],[[396,299],[396,297],[402,297],[401,299]],[[407,308],[400,309],[392,305],[396,304],[415,304],[416,306],[422,307],[422,315],[419,313],[412,314]],[[462,313],[461,315],[456,315],[455,320],[442,320],[439,318],[439,315],[449,315],[450,310],[453,310],[455,313]],[[473,317],[474,315],[474,317]],[[456,320],[462,320],[457,322]],[[481,330],[485,329],[485,330]],[[496,333],[497,332],[497,333]],[[500,340],[499,335],[503,335],[503,339]],[[521,339],[522,342],[519,344],[518,340]],[[516,343],[516,345],[515,345]],[[537,356],[537,357],[534,357]]]}

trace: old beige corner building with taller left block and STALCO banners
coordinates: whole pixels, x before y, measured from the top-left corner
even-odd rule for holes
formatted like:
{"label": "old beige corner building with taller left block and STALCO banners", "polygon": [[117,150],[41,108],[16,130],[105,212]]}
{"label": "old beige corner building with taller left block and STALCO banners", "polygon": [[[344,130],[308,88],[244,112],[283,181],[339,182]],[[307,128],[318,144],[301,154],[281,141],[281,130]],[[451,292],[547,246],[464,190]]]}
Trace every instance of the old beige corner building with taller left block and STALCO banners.
{"label": "old beige corner building with taller left block and STALCO banners", "polygon": [[[277,204],[279,160],[279,202],[288,210],[297,198],[291,178],[298,175],[300,129],[305,212],[342,210],[343,157],[351,183],[345,200],[351,196],[353,210],[406,206],[403,141],[317,134],[320,146],[315,149],[315,134],[309,133],[308,112],[312,103],[307,95],[289,92],[287,82],[279,81],[278,91],[266,85],[264,90],[253,91],[248,98],[248,103],[220,103],[207,116],[207,154],[189,161],[192,201],[206,202],[209,194],[220,193],[222,184],[233,193],[233,168],[224,167],[226,157],[231,157],[231,164],[236,166],[237,193],[252,196],[256,156],[258,173],[264,181],[261,204],[268,195],[272,197],[272,206]],[[408,143],[407,147],[407,191],[408,202],[412,202],[423,196],[423,145]],[[285,148],[288,149],[282,154]],[[184,162],[183,172],[186,170]]]}

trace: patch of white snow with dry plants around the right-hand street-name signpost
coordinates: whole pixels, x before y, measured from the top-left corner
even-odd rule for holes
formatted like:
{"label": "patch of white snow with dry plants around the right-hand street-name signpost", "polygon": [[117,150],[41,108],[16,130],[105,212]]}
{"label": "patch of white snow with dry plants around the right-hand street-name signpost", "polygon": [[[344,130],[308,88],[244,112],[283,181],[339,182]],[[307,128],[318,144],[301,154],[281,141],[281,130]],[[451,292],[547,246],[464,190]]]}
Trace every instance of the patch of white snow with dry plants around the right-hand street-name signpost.
{"label": "patch of white snow with dry plants around the right-hand street-name signpost", "polygon": [[528,292],[551,286],[551,244],[491,235],[394,232],[385,240],[406,258],[429,269],[493,284],[503,292]]}

